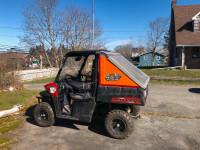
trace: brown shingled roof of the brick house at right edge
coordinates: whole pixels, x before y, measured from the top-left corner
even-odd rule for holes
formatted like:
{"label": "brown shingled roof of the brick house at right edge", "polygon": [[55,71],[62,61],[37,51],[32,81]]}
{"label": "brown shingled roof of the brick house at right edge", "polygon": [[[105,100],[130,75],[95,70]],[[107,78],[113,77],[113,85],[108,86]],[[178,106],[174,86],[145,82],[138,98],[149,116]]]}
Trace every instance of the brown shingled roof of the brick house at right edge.
{"label": "brown shingled roof of the brick house at right edge", "polygon": [[200,12],[200,5],[174,7],[176,45],[200,45],[200,33],[193,32],[191,19]]}

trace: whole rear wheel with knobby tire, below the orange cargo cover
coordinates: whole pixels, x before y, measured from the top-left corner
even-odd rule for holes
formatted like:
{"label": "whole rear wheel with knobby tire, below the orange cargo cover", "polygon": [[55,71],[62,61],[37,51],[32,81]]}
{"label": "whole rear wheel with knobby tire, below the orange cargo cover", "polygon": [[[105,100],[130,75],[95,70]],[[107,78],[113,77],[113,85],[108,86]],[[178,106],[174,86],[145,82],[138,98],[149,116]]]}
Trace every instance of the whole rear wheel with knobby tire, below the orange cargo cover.
{"label": "whole rear wheel with knobby tire, below the orange cargo cover", "polygon": [[133,120],[130,114],[122,110],[112,110],[105,120],[108,134],[115,139],[125,139],[133,131]]}

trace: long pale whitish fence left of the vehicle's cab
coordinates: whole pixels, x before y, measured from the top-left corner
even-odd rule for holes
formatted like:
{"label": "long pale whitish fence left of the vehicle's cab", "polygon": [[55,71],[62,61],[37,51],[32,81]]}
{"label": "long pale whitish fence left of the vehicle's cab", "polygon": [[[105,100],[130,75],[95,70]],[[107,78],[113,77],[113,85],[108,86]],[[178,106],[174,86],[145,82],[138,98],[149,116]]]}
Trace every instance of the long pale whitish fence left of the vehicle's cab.
{"label": "long pale whitish fence left of the vehicle's cab", "polygon": [[51,68],[16,71],[15,75],[18,75],[22,81],[31,81],[40,78],[54,77],[57,73],[58,68]]}

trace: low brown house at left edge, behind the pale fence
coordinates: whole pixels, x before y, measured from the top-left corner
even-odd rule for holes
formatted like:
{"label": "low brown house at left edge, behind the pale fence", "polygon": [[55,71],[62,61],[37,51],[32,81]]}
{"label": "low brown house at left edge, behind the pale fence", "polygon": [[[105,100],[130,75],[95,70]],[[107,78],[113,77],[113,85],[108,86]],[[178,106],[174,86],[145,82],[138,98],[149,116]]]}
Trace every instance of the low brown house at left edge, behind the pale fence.
{"label": "low brown house at left edge, behind the pale fence", "polygon": [[12,69],[37,68],[39,67],[39,61],[26,53],[4,52],[0,53],[0,65],[5,65]]}

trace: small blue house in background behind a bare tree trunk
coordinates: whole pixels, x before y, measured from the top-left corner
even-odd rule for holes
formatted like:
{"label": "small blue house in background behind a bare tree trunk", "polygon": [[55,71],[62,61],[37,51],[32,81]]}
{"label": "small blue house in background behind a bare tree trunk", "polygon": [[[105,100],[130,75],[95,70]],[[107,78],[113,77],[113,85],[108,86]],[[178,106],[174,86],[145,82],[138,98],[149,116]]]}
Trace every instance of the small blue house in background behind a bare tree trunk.
{"label": "small blue house in background behind a bare tree trunk", "polygon": [[[152,52],[143,53],[139,56],[140,66],[152,66]],[[165,65],[165,55],[160,53],[155,53],[154,66],[164,66]]]}

